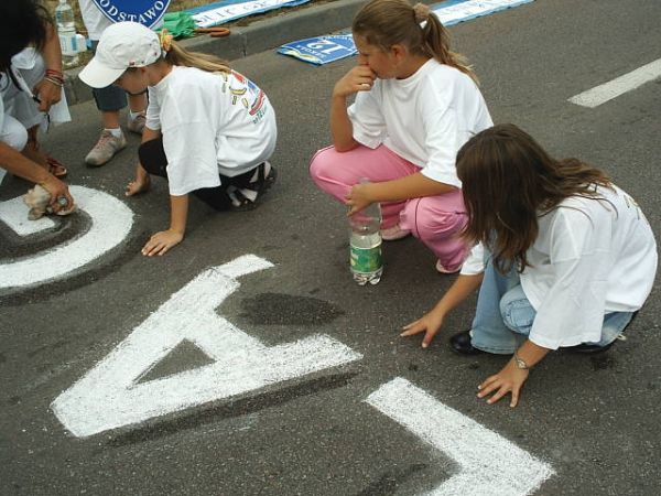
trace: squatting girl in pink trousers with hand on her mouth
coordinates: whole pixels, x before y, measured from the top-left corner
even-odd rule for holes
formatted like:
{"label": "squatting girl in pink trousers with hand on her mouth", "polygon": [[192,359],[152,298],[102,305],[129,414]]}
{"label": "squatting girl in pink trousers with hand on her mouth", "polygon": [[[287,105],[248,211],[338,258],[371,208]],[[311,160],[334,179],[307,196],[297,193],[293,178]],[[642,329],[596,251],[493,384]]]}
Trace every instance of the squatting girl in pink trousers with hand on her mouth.
{"label": "squatting girl in pink trousers with hand on her mouth", "polygon": [[333,145],[315,154],[311,175],[348,215],[380,203],[384,240],[412,233],[436,270],[456,272],[468,248],[458,236],[467,217],[455,155],[492,125],[476,77],[422,3],[372,0],[351,29],[358,64],[334,87]]}

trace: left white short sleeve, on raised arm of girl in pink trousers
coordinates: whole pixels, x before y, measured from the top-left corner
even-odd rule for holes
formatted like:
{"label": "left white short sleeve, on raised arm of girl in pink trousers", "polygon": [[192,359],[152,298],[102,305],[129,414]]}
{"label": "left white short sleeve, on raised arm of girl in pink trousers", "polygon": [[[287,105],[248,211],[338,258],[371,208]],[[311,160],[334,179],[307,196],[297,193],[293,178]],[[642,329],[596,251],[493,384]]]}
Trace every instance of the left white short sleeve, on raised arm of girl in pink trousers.
{"label": "left white short sleeve, on raised arm of girl in pink trousers", "polygon": [[354,139],[371,149],[381,144],[387,136],[386,119],[376,98],[378,91],[377,85],[369,91],[359,91],[347,109],[354,127]]}

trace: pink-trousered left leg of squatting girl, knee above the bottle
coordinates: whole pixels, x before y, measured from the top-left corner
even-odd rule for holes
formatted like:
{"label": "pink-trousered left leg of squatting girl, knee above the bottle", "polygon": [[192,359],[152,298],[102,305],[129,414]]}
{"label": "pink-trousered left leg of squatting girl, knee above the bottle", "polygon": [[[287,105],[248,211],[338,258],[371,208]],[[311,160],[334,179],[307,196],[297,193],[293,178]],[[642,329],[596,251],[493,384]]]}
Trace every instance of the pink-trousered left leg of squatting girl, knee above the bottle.
{"label": "pink-trousered left leg of squatting girl, knee above the bottle", "polygon": [[[342,203],[351,186],[359,183],[362,177],[378,183],[404,177],[418,171],[415,165],[384,145],[373,150],[359,145],[342,153],[335,150],[335,147],[328,147],[316,152],[310,164],[310,174],[319,190]],[[399,213],[404,205],[405,202],[381,204],[383,229],[399,223]]]}

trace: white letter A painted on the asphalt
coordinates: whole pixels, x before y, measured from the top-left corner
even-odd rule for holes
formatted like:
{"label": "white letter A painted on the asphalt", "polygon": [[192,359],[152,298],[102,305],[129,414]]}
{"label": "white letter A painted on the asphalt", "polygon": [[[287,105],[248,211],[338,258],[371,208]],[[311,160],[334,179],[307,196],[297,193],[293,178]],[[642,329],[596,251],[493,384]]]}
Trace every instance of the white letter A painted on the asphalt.
{"label": "white letter A painted on the asphalt", "polygon": [[[87,436],[362,357],[324,335],[267,347],[216,313],[239,288],[236,278],[269,267],[269,261],[247,255],[201,273],[59,395],[51,406],[55,416],[74,435]],[[216,362],[139,382],[183,339]]]}

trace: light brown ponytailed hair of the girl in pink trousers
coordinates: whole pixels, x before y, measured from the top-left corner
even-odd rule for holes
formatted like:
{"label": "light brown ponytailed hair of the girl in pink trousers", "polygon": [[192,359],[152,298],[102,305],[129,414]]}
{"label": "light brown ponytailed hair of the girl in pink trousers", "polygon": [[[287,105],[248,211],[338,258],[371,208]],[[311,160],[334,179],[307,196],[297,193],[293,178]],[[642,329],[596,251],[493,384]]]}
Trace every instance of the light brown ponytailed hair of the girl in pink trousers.
{"label": "light brown ponytailed hair of the girl in pink trousers", "polygon": [[[420,26],[422,22],[425,22],[424,28]],[[411,54],[435,58],[477,83],[466,58],[449,50],[447,30],[423,3],[411,7],[408,0],[371,0],[354,18],[351,31],[383,52],[392,45],[403,44]]]}

